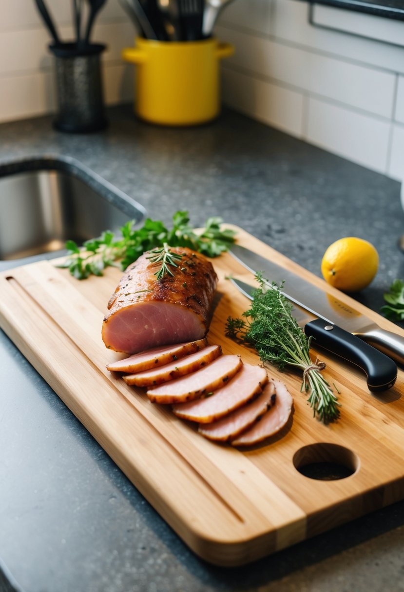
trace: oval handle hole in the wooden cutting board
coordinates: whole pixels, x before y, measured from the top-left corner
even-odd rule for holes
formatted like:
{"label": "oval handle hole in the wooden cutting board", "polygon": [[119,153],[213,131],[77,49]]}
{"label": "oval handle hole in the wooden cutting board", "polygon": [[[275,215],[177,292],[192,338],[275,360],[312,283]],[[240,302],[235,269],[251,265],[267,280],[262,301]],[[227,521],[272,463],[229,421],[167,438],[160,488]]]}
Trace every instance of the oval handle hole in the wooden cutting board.
{"label": "oval handle hole in the wooden cutting board", "polygon": [[293,465],[304,477],[336,481],[353,475],[360,460],[349,448],[321,442],[300,448],[293,456]]}

